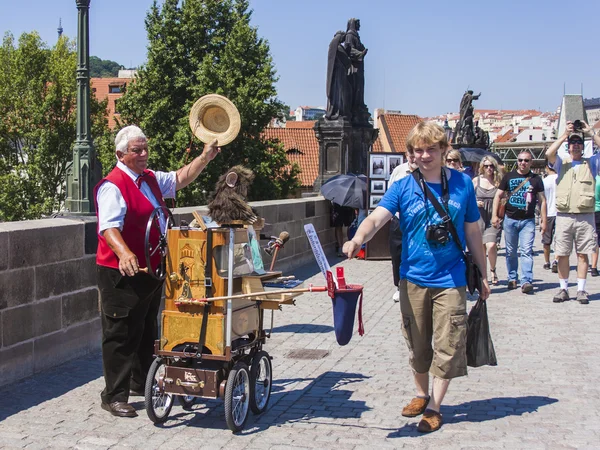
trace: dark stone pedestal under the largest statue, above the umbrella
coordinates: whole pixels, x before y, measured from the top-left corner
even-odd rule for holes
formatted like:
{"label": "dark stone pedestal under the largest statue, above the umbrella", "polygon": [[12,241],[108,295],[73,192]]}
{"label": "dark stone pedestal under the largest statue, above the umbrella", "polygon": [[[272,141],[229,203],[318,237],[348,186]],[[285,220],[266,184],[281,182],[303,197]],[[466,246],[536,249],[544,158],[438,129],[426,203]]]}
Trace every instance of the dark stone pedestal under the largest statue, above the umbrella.
{"label": "dark stone pedestal under the largest statue, above the umbrella", "polygon": [[347,119],[321,118],[314,127],[319,141],[319,175],[314,191],[331,177],[346,173],[367,174],[367,155],[378,129],[368,122],[353,124]]}

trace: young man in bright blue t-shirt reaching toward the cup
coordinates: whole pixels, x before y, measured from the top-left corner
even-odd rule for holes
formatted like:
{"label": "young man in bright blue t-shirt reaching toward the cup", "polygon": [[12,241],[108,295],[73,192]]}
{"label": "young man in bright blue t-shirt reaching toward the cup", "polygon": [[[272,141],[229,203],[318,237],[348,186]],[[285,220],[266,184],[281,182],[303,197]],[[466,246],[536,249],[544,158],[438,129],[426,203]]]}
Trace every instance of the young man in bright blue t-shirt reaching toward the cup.
{"label": "young man in bright blue t-shirt reaching toward the cup", "polygon": [[[354,257],[363,243],[396,212],[400,213],[400,309],[417,390],[402,415],[423,414],[418,430],[431,432],[442,425],[440,405],[450,380],[467,374],[467,282],[462,250],[452,236],[448,233],[447,239],[437,239],[443,231],[435,236],[427,232],[428,227],[436,229],[442,220],[421,183],[426,183],[446,211],[449,209],[462,247],[466,242],[481,273],[487,272],[473,183],[468,176],[443,168],[448,148],[444,129],[421,122],[409,133],[406,147],[415,156],[417,178],[408,176],[394,183],[352,240],[344,244],[343,251],[348,258]],[[485,300],[489,294],[484,277],[480,297]],[[429,372],[433,375],[431,396]]]}

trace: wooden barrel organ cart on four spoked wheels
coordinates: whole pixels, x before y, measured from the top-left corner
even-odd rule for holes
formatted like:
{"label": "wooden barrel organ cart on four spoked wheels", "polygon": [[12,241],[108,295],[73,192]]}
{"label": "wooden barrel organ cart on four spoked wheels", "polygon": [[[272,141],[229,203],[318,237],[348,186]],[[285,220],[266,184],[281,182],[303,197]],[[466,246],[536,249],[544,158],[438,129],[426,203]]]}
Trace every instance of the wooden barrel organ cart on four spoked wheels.
{"label": "wooden barrel organ cart on four spoked wheels", "polygon": [[[248,409],[260,414],[269,402],[272,366],[263,345],[273,328],[273,310],[292,304],[300,294],[264,293],[262,279],[280,272],[244,273],[247,224],[206,228],[196,215],[202,228],[167,228],[153,249],[148,237],[152,227],[160,228],[159,210],[170,216],[166,208],[157,208],[150,217],[146,260],[153,276],[165,278],[166,299],[162,332],[155,343],[157,357],[146,380],[146,411],[154,423],[162,423],[175,396],[184,409],[200,397],[223,398],[228,427],[240,431]],[[153,269],[150,255],[156,251],[162,253],[163,262]],[[252,293],[256,295],[211,299]],[[271,310],[268,334],[265,310]]]}

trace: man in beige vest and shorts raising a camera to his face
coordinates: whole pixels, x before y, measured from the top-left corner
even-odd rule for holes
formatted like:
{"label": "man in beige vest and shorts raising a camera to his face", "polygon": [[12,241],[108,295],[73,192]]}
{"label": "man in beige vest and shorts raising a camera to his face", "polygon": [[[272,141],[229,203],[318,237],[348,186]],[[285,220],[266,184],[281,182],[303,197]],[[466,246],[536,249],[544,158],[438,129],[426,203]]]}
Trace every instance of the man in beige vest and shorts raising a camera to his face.
{"label": "man in beige vest and shorts raising a camera to his face", "polygon": [[[575,245],[577,252],[577,300],[589,303],[585,290],[588,271],[588,254],[596,251],[597,235],[595,210],[596,175],[600,155],[584,158],[584,136],[591,137],[600,146],[600,137],[583,120],[567,122],[565,132],[546,150],[548,163],[558,174],[556,179],[556,230],[554,253],[558,259],[560,289],[554,303],[569,300],[569,256]],[[558,149],[565,140],[569,156],[564,160]]]}

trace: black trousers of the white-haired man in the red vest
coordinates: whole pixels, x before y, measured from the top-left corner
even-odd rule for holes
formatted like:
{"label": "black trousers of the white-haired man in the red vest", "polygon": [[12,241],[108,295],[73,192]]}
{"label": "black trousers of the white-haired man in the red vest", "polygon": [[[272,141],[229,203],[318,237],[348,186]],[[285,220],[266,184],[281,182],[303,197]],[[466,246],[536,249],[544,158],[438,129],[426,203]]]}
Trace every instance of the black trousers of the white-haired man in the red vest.
{"label": "black trousers of the white-haired man in the red vest", "polygon": [[162,281],[140,272],[123,276],[97,266],[102,308],[104,403],[127,402],[129,389],[144,390],[158,339]]}

